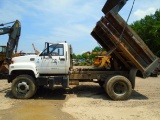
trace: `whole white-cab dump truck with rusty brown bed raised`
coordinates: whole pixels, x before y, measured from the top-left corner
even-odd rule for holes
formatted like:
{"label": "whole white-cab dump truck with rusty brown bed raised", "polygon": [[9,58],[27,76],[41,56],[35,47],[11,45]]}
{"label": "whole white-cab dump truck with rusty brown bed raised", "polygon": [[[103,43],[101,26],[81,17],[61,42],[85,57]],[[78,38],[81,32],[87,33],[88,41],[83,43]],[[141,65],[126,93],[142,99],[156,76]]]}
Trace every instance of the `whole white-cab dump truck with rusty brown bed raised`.
{"label": "whole white-cab dump truck with rusty brown bed raised", "polygon": [[118,14],[125,3],[126,0],[108,0],[102,9],[105,16],[91,32],[111,56],[109,68],[75,69],[71,45],[67,42],[46,42],[45,49],[38,55],[12,59],[8,82],[12,83],[13,95],[28,99],[36,94],[39,86],[68,88],[79,82],[97,82],[111,99],[128,99],[135,87],[138,71],[141,77],[146,78],[160,61]]}

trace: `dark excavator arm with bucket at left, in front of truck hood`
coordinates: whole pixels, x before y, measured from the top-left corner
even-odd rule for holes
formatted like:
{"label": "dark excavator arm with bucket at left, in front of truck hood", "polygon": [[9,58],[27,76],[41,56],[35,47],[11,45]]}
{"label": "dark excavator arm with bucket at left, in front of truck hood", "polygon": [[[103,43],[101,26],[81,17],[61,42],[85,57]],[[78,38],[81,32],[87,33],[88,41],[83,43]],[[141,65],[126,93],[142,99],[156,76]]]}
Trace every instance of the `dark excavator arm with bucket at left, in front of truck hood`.
{"label": "dark excavator arm with bucket at left, in front of truck hood", "polygon": [[20,22],[16,20],[14,22],[0,24],[0,26],[5,26],[6,24],[11,24],[11,23],[13,23],[11,27],[0,28],[0,35],[4,35],[4,34],[9,35],[9,39],[6,47],[5,59],[3,62],[1,61],[1,64],[0,64],[0,73],[7,71],[8,65],[11,62],[13,51],[15,50],[15,53],[16,53],[18,48],[19,37],[21,34]]}

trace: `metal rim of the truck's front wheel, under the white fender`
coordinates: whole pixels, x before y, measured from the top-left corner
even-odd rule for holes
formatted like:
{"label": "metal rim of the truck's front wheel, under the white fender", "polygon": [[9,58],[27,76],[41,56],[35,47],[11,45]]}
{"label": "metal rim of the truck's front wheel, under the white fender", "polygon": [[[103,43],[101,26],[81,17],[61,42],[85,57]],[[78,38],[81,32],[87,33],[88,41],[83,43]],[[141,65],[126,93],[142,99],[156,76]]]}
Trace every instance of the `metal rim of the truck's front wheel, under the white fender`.
{"label": "metal rim of the truck's front wheel, under the white fender", "polygon": [[29,91],[29,84],[26,81],[19,82],[17,84],[17,92],[26,94]]}

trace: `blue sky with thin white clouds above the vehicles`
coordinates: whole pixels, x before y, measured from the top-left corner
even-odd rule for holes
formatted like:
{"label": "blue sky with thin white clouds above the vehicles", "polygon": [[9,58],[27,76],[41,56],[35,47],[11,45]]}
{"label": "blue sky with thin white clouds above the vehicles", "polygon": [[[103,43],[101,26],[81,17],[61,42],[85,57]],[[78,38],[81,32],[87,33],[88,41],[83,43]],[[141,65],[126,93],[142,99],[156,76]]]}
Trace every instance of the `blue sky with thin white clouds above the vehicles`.
{"label": "blue sky with thin white clouds above the vehicles", "polygon": [[[73,53],[92,51],[98,43],[90,35],[104,14],[106,0],[0,0],[0,23],[21,22],[18,51],[42,51],[45,42],[67,41]],[[119,14],[127,20],[133,0],[128,0]],[[160,9],[160,0],[135,0],[128,24],[154,14]],[[11,24],[12,25],[12,24]],[[8,26],[11,26],[8,25]],[[6,45],[8,35],[0,36],[0,45]]]}

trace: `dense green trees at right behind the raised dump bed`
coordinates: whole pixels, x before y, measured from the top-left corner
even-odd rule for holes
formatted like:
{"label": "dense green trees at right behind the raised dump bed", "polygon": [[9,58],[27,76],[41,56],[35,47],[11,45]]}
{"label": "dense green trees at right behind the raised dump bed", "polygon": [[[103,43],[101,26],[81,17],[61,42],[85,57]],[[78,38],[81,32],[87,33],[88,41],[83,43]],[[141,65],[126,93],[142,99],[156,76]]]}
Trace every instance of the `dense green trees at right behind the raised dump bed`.
{"label": "dense green trees at right behind the raised dump bed", "polygon": [[160,10],[130,25],[152,52],[160,57]]}

